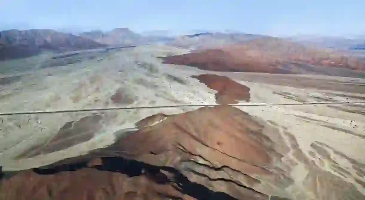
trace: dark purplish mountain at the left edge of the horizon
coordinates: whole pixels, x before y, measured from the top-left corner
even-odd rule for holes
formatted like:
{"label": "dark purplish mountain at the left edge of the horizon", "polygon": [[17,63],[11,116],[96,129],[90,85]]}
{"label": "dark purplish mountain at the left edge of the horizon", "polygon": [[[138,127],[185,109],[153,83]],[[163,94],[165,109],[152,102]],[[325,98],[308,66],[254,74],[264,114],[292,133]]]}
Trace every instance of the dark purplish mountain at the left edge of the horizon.
{"label": "dark purplish mountain at the left edge of the horizon", "polygon": [[105,47],[93,40],[51,29],[0,32],[0,60],[37,55],[42,51],[73,51]]}

